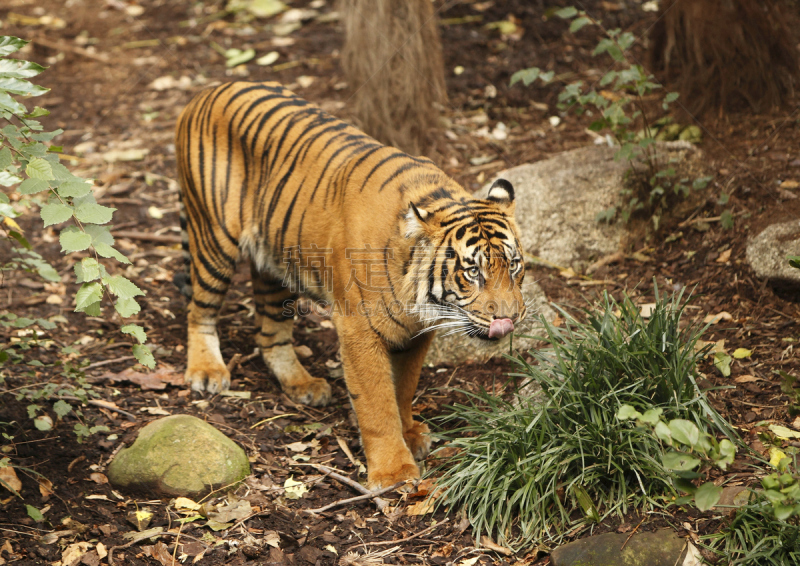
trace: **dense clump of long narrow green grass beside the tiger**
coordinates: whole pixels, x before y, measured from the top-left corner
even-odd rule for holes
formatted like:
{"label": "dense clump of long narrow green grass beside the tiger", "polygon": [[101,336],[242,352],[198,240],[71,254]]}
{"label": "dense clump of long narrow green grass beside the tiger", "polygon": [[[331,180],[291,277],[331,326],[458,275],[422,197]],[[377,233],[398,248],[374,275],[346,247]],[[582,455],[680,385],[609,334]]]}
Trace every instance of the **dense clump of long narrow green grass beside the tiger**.
{"label": "dense clump of long narrow green grass beside the tiger", "polygon": [[618,303],[607,294],[586,322],[560,310],[563,327],[543,320],[549,347],[531,352],[534,364],[517,359],[512,374],[538,384],[538,397],[467,393],[468,404],[441,417],[454,426],[445,438],[456,449],[438,480],[441,501],[463,508],[477,540],[554,545],[672,495],[658,438],[621,422],[621,405],[732,435],[697,387],[702,329],[682,328],[685,306],[682,292],[668,298],[656,289],[648,318],[629,297]]}

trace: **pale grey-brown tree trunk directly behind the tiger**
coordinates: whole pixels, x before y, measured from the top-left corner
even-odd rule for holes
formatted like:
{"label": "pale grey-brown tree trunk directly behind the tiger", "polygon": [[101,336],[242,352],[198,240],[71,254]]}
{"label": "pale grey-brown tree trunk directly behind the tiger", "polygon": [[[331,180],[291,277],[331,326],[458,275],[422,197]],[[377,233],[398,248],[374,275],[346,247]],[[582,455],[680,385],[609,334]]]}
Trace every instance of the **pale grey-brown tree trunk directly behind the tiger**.
{"label": "pale grey-brown tree trunk directly behind the tiger", "polygon": [[359,126],[413,155],[429,144],[446,100],[430,0],[342,0],[342,66]]}

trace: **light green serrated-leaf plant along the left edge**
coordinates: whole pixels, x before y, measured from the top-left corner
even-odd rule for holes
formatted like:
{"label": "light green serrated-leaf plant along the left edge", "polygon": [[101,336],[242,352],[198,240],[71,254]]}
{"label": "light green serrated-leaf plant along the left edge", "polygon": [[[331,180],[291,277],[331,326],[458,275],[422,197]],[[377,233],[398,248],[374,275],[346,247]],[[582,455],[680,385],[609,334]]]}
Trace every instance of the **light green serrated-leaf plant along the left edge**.
{"label": "light green serrated-leaf plant along the left edge", "polygon": [[[43,72],[44,67],[10,57],[27,43],[17,37],[0,36],[0,237],[11,252],[0,260],[0,283],[7,285],[8,279],[20,270],[37,274],[48,282],[61,281],[58,272],[34,250],[15,220],[29,210],[38,209],[43,227],[59,228],[61,252],[84,255],[74,266],[76,281],[81,284],[74,297],[75,311],[102,316],[103,300],[110,299],[113,312],[122,318],[133,316],[140,311],[136,297],[144,292],[126,277],[110,274],[104,264],[130,263],[114,247],[107,226],[116,209],[98,204],[92,183],[73,175],[60,163],[61,147],[53,145],[52,140],[62,131],[45,132],[37,120],[47,116],[48,111],[39,106],[29,110],[21,101],[48,92],[29,80]],[[47,331],[56,326],[53,320],[32,319],[7,310],[0,312],[0,326],[19,329],[10,343],[0,345],[0,380],[9,375],[2,371],[3,367],[13,366],[14,375],[25,377],[27,368],[44,365],[29,354],[32,347],[47,342]],[[153,355],[144,346],[147,340],[144,329],[137,324],[125,324],[122,332],[133,337],[136,359],[153,368]],[[70,379],[74,380],[75,375],[82,377],[80,370],[69,364],[62,369],[62,375]],[[43,396],[40,398],[53,400],[54,393],[46,387],[38,391]],[[80,400],[80,391],[85,390],[78,384],[69,393]],[[33,395],[33,391],[28,394]],[[68,403],[57,400],[56,405],[54,409],[61,418]],[[69,407],[78,414],[77,409]],[[37,413],[32,418],[39,419],[35,424],[40,428],[48,424],[44,415]],[[76,429],[79,437],[91,431],[90,427],[81,426],[80,431]]]}

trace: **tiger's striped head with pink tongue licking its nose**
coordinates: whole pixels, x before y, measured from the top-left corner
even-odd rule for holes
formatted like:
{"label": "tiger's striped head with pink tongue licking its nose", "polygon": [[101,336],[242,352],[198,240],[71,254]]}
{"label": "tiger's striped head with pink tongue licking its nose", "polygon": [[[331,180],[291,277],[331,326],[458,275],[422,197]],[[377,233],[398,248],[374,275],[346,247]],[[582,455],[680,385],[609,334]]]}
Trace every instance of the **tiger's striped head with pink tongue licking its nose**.
{"label": "tiger's striped head with pink tongue licking its nose", "polygon": [[498,340],[527,310],[514,188],[499,179],[485,200],[457,194],[445,187],[410,203],[414,311],[428,329]]}

